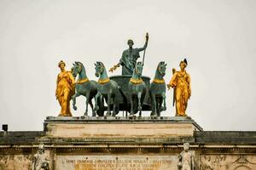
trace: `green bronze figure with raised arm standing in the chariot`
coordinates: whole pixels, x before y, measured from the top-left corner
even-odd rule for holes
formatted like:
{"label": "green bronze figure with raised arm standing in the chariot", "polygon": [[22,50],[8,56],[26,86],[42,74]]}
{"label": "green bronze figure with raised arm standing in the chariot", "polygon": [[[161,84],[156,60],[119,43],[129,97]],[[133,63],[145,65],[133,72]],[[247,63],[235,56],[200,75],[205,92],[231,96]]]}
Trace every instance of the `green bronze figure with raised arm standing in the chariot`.
{"label": "green bronze figure with raised arm standing in the chariot", "polygon": [[122,75],[132,75],[137,59],[140,57],[139,52],[145,50],[148,46],[148,33],[143,48],[132,48],[134,43],[131,39],[128,40],[127,44],[129,48],[123,52],[122,58],[119,60],[119,65],[122,65]]}

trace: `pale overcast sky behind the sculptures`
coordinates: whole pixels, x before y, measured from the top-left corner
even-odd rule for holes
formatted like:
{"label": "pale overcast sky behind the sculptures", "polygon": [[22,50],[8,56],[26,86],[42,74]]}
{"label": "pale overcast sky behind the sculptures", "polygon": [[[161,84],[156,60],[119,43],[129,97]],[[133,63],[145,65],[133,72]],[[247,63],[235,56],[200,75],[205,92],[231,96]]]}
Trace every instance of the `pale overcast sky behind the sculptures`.
{"label": "pale overcast sky behind the sculptures", "polygon": [[[97,80],[94,62],[117,64],[127,40],[141,48],[148,31],[144,76],[154,77],[166,61],[169,82],[186,57],[187,114],[205,130],[255,131],[255,8],[255,0],[0,0],[0,125],[43,130],[46,116],[60,111],[55,80],[61,59],[67,69],[81,61]],[[174,116],[172,90],[166,96],[162,115]],[[78,98],[73,116],[84,114],[84,101]]]}

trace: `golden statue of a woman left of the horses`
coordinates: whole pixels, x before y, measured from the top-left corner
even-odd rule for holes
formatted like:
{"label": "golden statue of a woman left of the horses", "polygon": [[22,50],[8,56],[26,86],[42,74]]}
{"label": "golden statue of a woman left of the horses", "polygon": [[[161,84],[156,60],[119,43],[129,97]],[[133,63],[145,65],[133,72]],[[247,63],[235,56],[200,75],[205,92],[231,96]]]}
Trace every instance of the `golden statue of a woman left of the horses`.
{"label": "golden statue of a woman left of the horses", "polygon": [[61,113],[59,116],[72,116],[70,111],[69,102],[74,94],[75,80],[71,71],[65,70],[66,64],[61,60],[59,67],[61,72],[57,77],[57,87],[56,87],[56,99],[58,99],[61,105]]}

